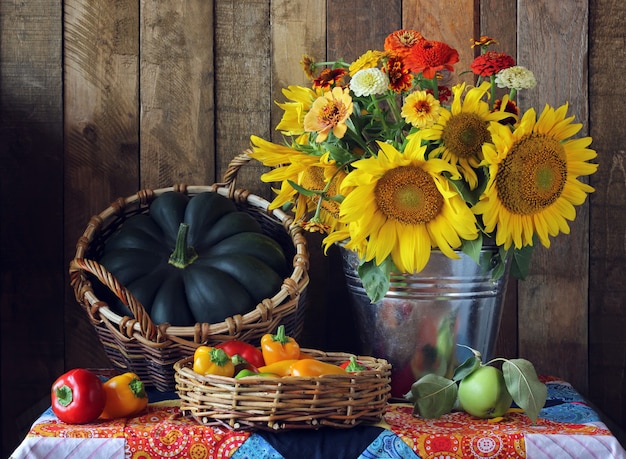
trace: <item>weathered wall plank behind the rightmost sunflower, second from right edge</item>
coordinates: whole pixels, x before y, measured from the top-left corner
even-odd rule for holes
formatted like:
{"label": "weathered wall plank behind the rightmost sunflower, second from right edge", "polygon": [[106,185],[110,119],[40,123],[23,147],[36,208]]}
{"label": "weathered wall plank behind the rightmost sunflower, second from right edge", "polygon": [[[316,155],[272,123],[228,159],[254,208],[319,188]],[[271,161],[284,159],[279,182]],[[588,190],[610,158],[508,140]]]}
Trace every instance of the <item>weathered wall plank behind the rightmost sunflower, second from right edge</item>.
{"label": "weathered wall plank behind the rightmost sunflower, second from right edge", "polygon": [[[522,91],[522,109],[569,101],[569,113],[588,126],[587,19],[584,0],[518,2],[518,60],[537,87]],[[519,353],[540,373],[556,374],[587,392],[587,205],[579,207],[571,234],[537,247],[531,273],[519,283]]]}

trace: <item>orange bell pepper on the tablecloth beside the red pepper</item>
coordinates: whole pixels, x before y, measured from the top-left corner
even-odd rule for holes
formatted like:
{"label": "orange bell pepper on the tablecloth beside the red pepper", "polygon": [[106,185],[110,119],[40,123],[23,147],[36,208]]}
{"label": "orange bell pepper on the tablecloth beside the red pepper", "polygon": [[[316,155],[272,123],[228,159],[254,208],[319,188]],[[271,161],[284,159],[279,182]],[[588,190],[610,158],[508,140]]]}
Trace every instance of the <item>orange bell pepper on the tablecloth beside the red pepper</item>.
{"label": "orange bell pepper on the tablecloth beside the red pepper", "polygon": [[117,419],[134,416],[148,406],[148,395],[143,382],[135,373],[127,372],[114,376],[102,384],[106,393],[102,419]]}

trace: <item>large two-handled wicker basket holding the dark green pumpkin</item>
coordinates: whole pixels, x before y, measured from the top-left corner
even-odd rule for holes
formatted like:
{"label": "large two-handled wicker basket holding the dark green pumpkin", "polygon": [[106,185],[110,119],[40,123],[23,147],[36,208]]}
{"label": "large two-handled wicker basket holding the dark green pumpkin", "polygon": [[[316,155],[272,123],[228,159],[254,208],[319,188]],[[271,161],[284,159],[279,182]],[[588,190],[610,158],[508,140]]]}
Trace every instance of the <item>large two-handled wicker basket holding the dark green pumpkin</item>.
{"label": "large two-handled wicker basket holding the dark green pumpkin", "polygon": [[[245,153],[235,157],[223,183],[146,189],[120,198],[91,218],[78,241],[75,258],[70,263],[70,282],[77,301],[87,312],[113,366],[135,372],[148,386],[159,391],[174,390],[174,363],[192,355],[200,344],[212,345],[234,338],[258,342],[263,334],[274,332],[281,324],[294,337],[302,330],[309,282],[306,241],[289,215],[280,210],[268,210],[268,201],[236,188],[237,172],[249,161],[250,157]],[[251,312],[228,317],[220,323],[197,323],[192,327],[153,323],[143,305],[97,260],[107,238],[128,217],[148,212],[154,198],[171,190],[190,196],[205,191],[220,193],[232,199],[239,210],[259,221],[263,232],[276,240],[287,258],[293,260],[293,271],[284,279],[280,290]],[[102,292],[103,286],[108,289],[105,293],[113,292],[128,305],[132,317],[118,315],[98,297],[96,292]]]}

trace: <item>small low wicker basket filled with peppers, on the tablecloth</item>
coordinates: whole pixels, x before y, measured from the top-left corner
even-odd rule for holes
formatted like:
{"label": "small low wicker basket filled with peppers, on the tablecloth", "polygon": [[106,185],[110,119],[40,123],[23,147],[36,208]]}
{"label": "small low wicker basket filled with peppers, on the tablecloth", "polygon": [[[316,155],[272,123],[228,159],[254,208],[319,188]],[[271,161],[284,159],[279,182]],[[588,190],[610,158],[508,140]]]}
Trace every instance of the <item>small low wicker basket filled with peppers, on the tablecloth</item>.
{"label": "small low wicker basket filled with peppers, on the tablecloth", "polygon": [[[314,358],[340,364],[352,354],[303,349]],[[182,413],[205,425],[232,430],[350,428],[381,420],[390,396],[391,365],[358,356],[368,370],[318,377],[203,376],[193,357],[176,362],[176,390]]]}

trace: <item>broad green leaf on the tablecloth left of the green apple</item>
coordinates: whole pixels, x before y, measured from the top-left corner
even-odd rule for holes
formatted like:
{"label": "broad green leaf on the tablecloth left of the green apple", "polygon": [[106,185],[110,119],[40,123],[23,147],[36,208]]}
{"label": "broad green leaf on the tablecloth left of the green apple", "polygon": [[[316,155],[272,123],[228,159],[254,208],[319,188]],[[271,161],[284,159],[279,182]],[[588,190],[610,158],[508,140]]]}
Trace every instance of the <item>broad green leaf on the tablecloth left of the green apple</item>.
{"label": "broad green leaf on the tablecloth left of the green apple", "polygon": [[434,419],[452,411],[457,391],[454,381],[431,373],[414,382],[405,398],[413,403],[413,414]]}

